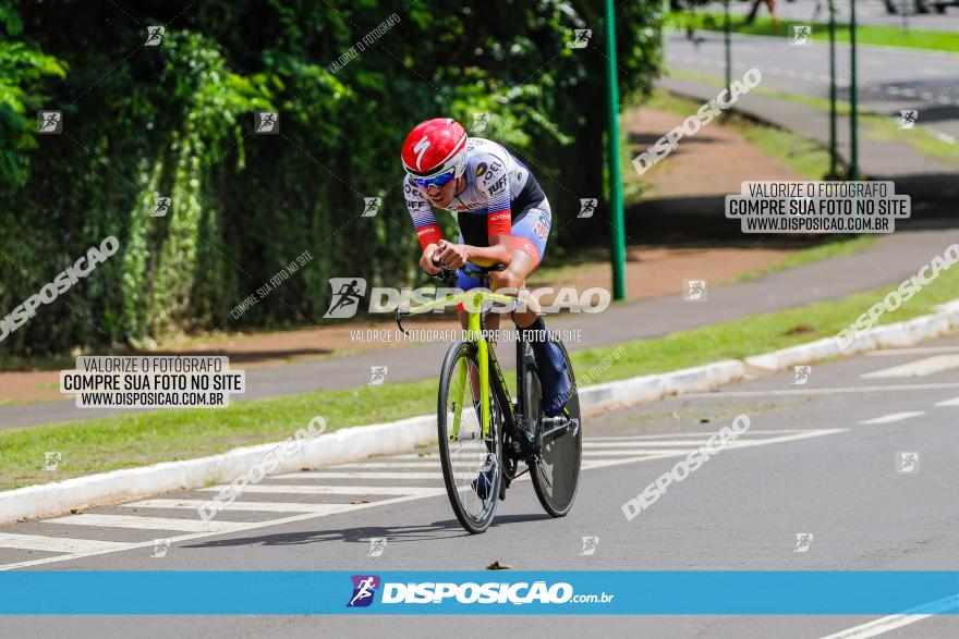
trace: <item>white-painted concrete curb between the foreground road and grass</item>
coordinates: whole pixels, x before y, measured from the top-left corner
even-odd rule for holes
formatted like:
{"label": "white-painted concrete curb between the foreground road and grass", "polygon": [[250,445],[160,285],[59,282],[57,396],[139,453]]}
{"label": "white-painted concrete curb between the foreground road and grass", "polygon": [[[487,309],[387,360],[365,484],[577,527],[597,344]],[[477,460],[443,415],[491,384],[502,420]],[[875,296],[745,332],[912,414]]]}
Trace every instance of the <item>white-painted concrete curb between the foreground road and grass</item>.
{"label": "white-painted concrete curb between the foreground road and grass", "polygon": [[[743,379],[750,370],[775,372],[838,355],[872,348],[909,346],[959,330],[959,299],[937,307],[936,315],[878,327],[854,340],[843,352],[831,339],[765,353],[744,360],[727,359],[704,366],[607,382],[580,390],[581,408],[655,402],[667,395],[701,393]],[[305,425],[304,425],[305,426]],[[436,416],[421,415],[388,423],[361,426],[303,440],[302,447],[272,472],[295,472],[345,464],[371,455],[391,455],[436,441]],[[114,470],[65,481],[0,492],[0,524],[58,515],[71,508],[108,504],[150,494],[229,482],[246,474],[281,442],[234,448],[221,455]]]}

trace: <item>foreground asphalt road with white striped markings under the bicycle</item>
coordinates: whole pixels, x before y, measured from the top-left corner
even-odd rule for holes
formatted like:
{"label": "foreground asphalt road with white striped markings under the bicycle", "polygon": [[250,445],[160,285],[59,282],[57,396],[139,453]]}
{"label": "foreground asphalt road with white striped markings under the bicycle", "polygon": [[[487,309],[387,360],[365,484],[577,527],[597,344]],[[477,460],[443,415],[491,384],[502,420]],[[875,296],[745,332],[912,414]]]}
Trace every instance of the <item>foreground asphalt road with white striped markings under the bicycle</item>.
{"label": "foreground asphalt road with white striped markings under the bicycle", "polygon": [[[581,489],[563,519],[545,516],[519,482],[489,531],[471,537],[452,517],[435,453],[410,451],[267,478],[210,523],[194,508],[217,487],[5,526],[0,568],[375,572],[499,561],[529,570],[955,569],[957,369],[952,335],[814,365],[805,384],[789,372],[592,416]],[[736,444],[624,518],[627,500],[740,414],[751,426]],[[914,465],[906,464],[911,453]],[[798,543],[803,533],[808,544]],[[598,537],[593,554],[583,554],[587,536]],[[372,538],[386,538],[381,556],[369,556]],[[169,550],[151,557],[158,539]],[[509,628],[529,637],[805,638],[865,624],[846,636],[876,636],[876,624],[890,637],[959,632],[955,616],[23,616],[0,617],[0,636],[484,637]]]}

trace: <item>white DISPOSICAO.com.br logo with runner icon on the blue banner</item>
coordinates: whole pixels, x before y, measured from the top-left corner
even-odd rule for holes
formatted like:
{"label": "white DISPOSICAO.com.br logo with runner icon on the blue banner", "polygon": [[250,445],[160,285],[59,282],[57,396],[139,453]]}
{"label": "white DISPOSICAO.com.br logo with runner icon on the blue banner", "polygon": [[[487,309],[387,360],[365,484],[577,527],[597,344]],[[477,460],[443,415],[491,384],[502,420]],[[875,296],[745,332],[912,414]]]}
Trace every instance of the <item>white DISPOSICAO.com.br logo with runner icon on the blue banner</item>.
{"label": "white DISPOSICAO.com.br logo with runner icon on the blue banner", "polygon": [[381,604],[565,604],[609,603],[615,594],[575,594],[572,585],[557,581],[410,581],[380,582],[376,575],[354,575],[352,595],[347,607],[368,606],[377,591]]}

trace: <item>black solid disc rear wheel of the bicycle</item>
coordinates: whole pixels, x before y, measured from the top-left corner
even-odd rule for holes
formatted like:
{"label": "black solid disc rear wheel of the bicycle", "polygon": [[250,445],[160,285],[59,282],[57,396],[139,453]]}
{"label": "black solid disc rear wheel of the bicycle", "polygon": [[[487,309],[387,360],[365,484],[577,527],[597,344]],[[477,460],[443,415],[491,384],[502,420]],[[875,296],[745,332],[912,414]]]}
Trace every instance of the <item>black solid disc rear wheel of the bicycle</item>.
{"label": "black solid disc rear wheel of the bicycle", "polygon": [[[530,467],[533,488],[539,504],[554,517],[565,517],[573,506],[576,497],[576,489],[580,484],[580,459],[583,455],[583,420],[580,416],[580,398],[576,392],[576,380],[573,374],[573,366],[569,354],[562,344],[558,344],[562,351],[566,368],[566,381],[570,389],[570,398],[566,403],[563,414],[569,420],[569,428],[556,438],[544,441],[539,456]],[[538,380],[534,385],[534,402],[538,404]],[[539,417],[538,405],[533,410]],[[544,429],[548,430],[548,428]]]}

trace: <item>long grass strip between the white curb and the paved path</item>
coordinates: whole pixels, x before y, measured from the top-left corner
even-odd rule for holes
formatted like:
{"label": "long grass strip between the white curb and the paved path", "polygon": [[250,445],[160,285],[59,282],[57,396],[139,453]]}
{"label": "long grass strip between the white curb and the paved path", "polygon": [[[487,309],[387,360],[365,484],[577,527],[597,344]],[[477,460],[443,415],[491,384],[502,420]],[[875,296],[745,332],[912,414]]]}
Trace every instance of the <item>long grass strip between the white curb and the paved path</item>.
{"label": "long grass strip between the white curb and the paved path", "polygon": [[[591,376],[588,383],[594,384],[757,355],[831,336],[893,288],[895,286],[655,340],[579,351],[573,354],[573,362],[581,379],[604,359],[612,362],[608,368],[597,366],[597,371],[605,370]],[[890,323],[934,312],[934,305],[954,298],[957,290],[959,269],[944,271],[908,304],[882,316],[881,321]],[[694,309],[694,304],[690,304],[690,309]],[[614,356],[620,347],[621,356]],[[434,364],[438,372],[440,362]],[[174,409],[4,430],[0,431],[0,487],[12,489],[60,481],[279,441],[305,427],[316,415],[323,415],[328,428],[335,430],[429,414],[436,409],[436,380],[429,379],[236,402],[226,409]],[[43,469],[47,452],[61,454],[56,471]]]}

